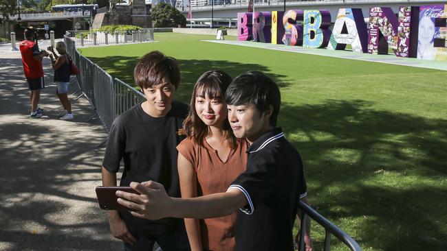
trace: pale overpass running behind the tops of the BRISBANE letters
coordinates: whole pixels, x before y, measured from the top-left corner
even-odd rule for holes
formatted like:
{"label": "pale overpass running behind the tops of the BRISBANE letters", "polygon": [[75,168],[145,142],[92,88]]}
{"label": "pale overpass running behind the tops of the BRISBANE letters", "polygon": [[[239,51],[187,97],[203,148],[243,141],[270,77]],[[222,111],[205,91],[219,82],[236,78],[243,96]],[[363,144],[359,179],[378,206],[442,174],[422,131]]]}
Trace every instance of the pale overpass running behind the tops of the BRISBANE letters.
{"label": "pale overpass running behind the tops of the BRISBANE letters", "polygon": [[[236,19],[237,12],[248,12],[248,0],[230,0],[224,4],[213,4],[213,1],[202,0],[202,4],[191,4],[193,19]],[[214,2],[214,3],[215,3]],[[221,2],[219,2],[221,3]],[[254,0],[254,11],[271,12],[273,10],[329,10],[331,22],[337,19],[340,8],[360,8],[363,16],[369,16],[371,7],[391,7],[397,13],[400,6],[422,6],[433,4],[447,4],[446,0],[317,0],[317,1],[289,1],[289,0]],[[177,1],[177,10],[188,17],[189,5],[183,0]]]}

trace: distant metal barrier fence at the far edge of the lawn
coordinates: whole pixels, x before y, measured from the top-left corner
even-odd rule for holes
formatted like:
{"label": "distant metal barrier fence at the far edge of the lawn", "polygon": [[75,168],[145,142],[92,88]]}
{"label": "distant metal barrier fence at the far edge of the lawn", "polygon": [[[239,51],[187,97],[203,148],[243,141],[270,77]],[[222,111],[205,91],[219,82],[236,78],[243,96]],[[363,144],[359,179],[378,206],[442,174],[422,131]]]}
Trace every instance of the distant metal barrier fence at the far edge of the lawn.
{"label": "distant metal barrier fence at the far edge of the lawn", "polygon": [[74,40],[76,46],[91,46],[153,41],[153,32],[153,28],[113,33],[92,30],[69,30],[65,32],[65,36]]}

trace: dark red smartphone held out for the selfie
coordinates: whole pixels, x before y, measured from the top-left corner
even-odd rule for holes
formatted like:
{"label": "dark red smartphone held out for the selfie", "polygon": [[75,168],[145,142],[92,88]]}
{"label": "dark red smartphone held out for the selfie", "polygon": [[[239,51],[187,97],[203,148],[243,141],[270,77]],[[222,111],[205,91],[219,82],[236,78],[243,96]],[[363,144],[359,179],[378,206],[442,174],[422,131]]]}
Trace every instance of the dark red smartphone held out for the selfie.
{"label": "dark red smartphone held out for the selfie", "polygon": [[118,210],[118,211],[129,211],[129,208],[122,206],[116,202],[118,196],[116,196],[116,191],[124,191],[127,193],[135,193],[140,195],[137,191],[133,190],[131,187],[96,187],[96,198],[98,198],[99,207],[103,210]]}

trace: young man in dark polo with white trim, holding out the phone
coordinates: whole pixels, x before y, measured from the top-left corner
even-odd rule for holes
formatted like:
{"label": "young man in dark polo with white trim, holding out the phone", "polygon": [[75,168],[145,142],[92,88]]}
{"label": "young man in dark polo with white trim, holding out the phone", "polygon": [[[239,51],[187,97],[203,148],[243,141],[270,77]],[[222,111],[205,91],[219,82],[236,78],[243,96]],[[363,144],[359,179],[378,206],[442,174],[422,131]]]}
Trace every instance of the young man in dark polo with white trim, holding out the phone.
{"label": "young man in dark polo with white trim, holding out the phone", "polygon": [[[228,119],[235,136],[246,138],[248,163],[225,193],[199,198],[170,198],[162,184],[132,182],[142,195],[117,192],[132,215],[210,218],[241,209],[235,228],[236,250],[293,250],[292,229],[300,198],[306,198],[301,156],[276,128],[279,87],[259,71],[233,80],[226,91]],[[243,213],[242,213],[243,212]],[[307,232],[307,250],[312,242]]]}

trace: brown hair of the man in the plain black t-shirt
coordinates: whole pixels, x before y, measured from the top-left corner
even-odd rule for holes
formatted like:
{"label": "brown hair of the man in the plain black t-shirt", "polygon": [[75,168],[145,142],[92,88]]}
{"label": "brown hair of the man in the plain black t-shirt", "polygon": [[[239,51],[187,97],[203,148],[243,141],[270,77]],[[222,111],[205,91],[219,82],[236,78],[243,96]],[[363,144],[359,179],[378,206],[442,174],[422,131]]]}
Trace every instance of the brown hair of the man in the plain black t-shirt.
{"label": "brown hair of the man in the plain black t-shirt", "polygon": [[151,88],[169,81],[177,87],[180,84],[180,71],[175,58],[164,56],[160,51],[151,51],[142,56],[133,70],[135,84],[141,89]]}

